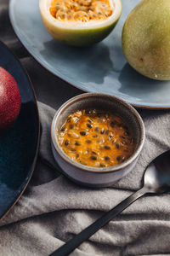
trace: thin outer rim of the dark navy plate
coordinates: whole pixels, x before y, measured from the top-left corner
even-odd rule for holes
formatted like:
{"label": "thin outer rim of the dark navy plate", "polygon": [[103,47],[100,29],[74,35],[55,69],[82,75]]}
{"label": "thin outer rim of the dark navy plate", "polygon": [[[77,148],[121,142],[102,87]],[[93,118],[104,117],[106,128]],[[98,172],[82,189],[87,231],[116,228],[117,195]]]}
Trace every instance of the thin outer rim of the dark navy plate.
{"label": "thin outer rim of the dark navy plate", "polygon": [[[16,199],[10,204],[10,206],[8,207],[7,211],[5,211],[3,213],[3,215],[0,217],[0,221],[5,218],[7,215],[8,215],[8,212],[10,212],[12,210],[12,208],[14,207],[14,205],[17,203],[17,201],[20,200],[20,197],[21,195],[23,195],[23,193],[25,192],[26,190],[26,187],[28,186],[28,184],[30,183],[31,181],[31,177],[32,177],[32,174],[35,170],[35,166],[37,164],[37,155],[38,155],[38,150],[39,150],[39,145],[40,145],[40,116],[39,116],[39,111],[38,111],[38,107],[37,107],[37,96],[36,96],[36,93],[35,93],[35,90],[33,88],[33,84],[31,82],[31,78],[29,76],[29,74],[27,73],[26,71],[26,68],[22,65],[20,59],[14,54],[13,50],[9,49],[7,44],[4,44],[2,40],[0,40],[0,44],[3,45],[3,47],[5,47],[6,49],[8,49],[8,52],[14,56],[14,59],[15,61],[18,61],[19,64],[20,64],[20,67],[22,68],[23,72],[26,74],[26,78],[28,79],[28,82],[30,84],[30,88],[31,88],[31,92],[32,92],[32,95],[34,96],[34,99],[35,99],[35,106],[36,106],[36,109],[37,109],[37,148],[36,148],[36,153],[34,155],[34,159],[32,161],[32,166],[31,166],[31,170],[29,171],[30,172],[30,175],[28,177],[28,180],[26,182],[26,184],[24,185],[23,189],[21,190],[20,194],[18,194],[16,196]],[[25,179],[26,180],[26,179]]]}

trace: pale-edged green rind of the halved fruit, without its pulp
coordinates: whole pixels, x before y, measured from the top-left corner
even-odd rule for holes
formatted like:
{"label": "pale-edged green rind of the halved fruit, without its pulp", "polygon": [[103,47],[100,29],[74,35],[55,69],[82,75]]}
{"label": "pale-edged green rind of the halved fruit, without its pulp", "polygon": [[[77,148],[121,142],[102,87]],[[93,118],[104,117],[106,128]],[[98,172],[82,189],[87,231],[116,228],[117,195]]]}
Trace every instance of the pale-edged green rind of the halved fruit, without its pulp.
{"label": "pale-edged green rind of the halved fruit, without its pulp", "polygon": [[111,15],[108,20],[96,22],[96,24],[94,22],[89,23],[88,26],[84,26],[83,24],[82,26],[65,26],[63,22],[54,19],[54,17],[50,15],[48,8],[46,9],[47,5],[44,5],[45,1],[46,0],[40,0],[39,2],[40,14],[44,26],[49,34],[57,41],[72,46],[88,46],[99,43],[111,33],[122,14],[121,0],[116,0],[116,2],[119,3],[116,7],[116,15]]}

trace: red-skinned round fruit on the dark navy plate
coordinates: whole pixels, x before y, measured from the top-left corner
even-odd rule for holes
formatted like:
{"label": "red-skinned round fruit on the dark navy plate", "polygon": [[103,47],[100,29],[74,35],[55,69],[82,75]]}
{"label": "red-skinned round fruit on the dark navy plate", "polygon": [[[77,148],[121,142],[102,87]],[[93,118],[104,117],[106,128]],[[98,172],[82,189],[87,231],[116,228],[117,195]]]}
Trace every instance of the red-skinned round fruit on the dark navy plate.
{"label": "red-skinned round fruit on the dark navy plate", "polygon": [[13,76],[0,67],[0,131],[11,125],[20,113],[20,90]]}

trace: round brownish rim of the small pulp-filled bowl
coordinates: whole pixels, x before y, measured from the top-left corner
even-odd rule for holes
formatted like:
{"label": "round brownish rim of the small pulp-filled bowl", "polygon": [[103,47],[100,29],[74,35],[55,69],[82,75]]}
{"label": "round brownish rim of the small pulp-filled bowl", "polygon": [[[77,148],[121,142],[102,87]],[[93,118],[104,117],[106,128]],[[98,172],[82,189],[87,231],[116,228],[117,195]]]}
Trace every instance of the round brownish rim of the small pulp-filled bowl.
{"label": "round brownish rim of the small pulp-filled bowl", "polygon": [[[67,154],[65,154],[65,152],[59,146],[58,139],[57,139],[54,131],[55,131],[55,126],[56,126],[57,119],[59,118],[60,113],[63,113],[66,108],[71,106],[72,103],[79,102],[79,101],[82,101],[82,99],[84,99],[84,98],[94,97],[94,96],[96,96],[96,97],[107,96],[107,97],[110,97],[112,100],[115,100],[116,102],[122,103],[122,105],[124,105],[124,107],[128,108],[128,110],[133,114],[133,116],[137,119],[137,121],[139,123],[139,127],[140,127],[139,145],[135,149],[133,154],[126,161],[121,163],[120,165],[109,166],[109,167],[104,167],[104,168],[85,166],[85,165],[79,164],[78,162],[76,162],[74,160],[71,160],[71,158]],[[71,99],[69,99],[68,101],[63,103],[60,106],[60,108],[56,111],[56,113],[54,114],[52,124],[51,124],[51,142],[53,143],[53,146],[54,146],[55,150],[57,151],[57,153],[59,154],[59,156],[63,160],[65,160],[68,164],[70,164],[71,166],[74,166],[74,167],[79,168],[82,171],[86,171],[86,172],[98,172],[98,173],[118,172],[118,171],[124,169],[125,167],[129,166],[133,162],[133,160],[135,160],[139,156],[139,154],[142,151],[142,148],[144,146],[144,138],[145,138],[144,122],[143,122],[143,119],[141,118],[141,116],[139,115],[139,113],[137,112],[137,110],[135,108],[133,108],[133,106],[131,106],[129,103],[122,100],[121,98],[119,98],[117,96],[105,94],[105,93],[89,92],[89,93],[82,93],[80,95],[71,97]]]}

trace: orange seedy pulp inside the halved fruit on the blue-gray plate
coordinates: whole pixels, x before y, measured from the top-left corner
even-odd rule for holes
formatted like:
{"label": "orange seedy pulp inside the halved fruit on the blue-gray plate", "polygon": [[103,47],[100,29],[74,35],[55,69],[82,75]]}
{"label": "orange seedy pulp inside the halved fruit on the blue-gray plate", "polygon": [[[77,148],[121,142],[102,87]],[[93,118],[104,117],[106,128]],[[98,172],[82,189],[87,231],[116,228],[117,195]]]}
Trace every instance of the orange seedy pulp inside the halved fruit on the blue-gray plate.
{"label": "orange seedy pulp inside the halved fruit on the blue-gray plate", "polygon": [[106,20],[113,13],[108,0],[53,0],[50,14],[60,21]]}

